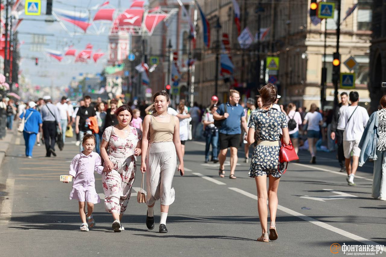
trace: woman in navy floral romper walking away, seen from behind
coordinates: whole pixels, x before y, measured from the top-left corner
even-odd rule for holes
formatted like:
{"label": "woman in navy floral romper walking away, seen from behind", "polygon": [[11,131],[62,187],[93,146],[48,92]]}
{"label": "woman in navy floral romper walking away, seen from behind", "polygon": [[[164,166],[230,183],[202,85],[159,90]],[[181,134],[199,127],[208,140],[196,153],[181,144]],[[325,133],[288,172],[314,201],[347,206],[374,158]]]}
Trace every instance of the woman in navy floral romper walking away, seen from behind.
{"label": "woman in navy floral romper walking away, seen from behind", "polygon": [[[248,176],[255,178],[257,188],[257,209],[262,229],[262,235],[257,238],[257,241],[269,242],[269,240],[278,238],[275,222],[278,208],[277,193],[281,177],[280,172],[284,169],[284,163],[279,163],[280,128],[285,145],[289,144],[289,134],[285,113],[273,108],[273,103],[278,95],[276,87],[267,84],[259,90],[259,93],[263,108],[251,114],[248,124],[248,144],[253,144],[257,140]],[[266,177],[269,178],[268,192]],[[271,216],[269,236],[267,232],[267,198]]]}

